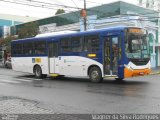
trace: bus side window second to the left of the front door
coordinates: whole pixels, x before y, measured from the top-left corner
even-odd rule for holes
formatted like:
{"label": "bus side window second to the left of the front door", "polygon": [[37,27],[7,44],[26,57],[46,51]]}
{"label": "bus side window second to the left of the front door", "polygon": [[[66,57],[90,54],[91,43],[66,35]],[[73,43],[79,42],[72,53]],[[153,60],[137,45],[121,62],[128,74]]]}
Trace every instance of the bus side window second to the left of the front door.
{"label": "bus side window second to the left of the front door", "polygon": [[81,52],[83,37],[72,37],[71,41],[72,41],[72,52]]}

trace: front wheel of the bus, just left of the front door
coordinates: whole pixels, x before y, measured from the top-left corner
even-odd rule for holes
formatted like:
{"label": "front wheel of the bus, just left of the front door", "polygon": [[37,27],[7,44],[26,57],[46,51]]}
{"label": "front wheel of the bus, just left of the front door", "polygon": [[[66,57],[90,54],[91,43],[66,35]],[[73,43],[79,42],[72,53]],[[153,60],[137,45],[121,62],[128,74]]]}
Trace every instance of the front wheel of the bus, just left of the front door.
{"label": "front wheel of the bus, just left of the front door", "polygon": [[102,78],[101,70],[96,66],[91,67],[89,70],[89,78],[91,82],[94,82],[94,83],[102,82],[103,78]]}

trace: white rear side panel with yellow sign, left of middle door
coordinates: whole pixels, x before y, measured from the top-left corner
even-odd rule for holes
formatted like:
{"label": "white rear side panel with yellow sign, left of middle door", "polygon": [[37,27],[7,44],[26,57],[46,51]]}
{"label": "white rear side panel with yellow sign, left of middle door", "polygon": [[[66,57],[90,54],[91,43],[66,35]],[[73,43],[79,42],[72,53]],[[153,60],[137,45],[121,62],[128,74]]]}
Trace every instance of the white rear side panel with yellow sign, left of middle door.
{"label": "white rear side panel with yellow sign, left of middle door", "polygon": [[40,65],[43,74],[49,74],[48,57],[12,57],[12,69],[33,73],[33,67]]}

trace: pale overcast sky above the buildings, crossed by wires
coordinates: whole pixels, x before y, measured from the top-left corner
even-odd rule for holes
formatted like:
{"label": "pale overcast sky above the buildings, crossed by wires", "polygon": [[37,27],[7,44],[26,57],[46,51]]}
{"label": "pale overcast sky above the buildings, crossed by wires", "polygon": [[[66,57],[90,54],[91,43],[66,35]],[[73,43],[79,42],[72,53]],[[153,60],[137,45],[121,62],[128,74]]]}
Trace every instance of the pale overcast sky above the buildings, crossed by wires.
{"label": "pale overcast sky above the buildings, crossed by wires", "polygon": [[[13,3],[4,1],[10,1]],[[23,1],[21,2],[23,4],[30,4],[41,7],[15,4],[15,2],[19,1]],[[34,1],[38,1],[38,3],[34,3]],[[84,0],[0,0],[0,13],[44,18],[48,16],[53,16],[55,14],[55,11],[61,8],[65,9],[67,12],[73,11],[73,9],[71,8],[55,6],[54,4],[83,8],[84,4],[83,1]],[[115,2],[118,0],[86,0],[86,1],[87,1],[86,2],[87,7],[93,7],[106,3]],[[121,1],[137,4],[137,0],[121,0]],[[51,3],[51,4],[47,5],[46,3]]]}

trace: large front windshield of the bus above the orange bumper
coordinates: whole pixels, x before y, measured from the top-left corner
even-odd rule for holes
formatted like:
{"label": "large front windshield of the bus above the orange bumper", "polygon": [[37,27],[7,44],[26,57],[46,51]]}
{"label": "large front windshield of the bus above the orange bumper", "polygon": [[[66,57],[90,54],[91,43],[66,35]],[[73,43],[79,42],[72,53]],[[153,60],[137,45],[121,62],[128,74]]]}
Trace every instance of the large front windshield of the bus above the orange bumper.
{"label": "large front windshield of the bus above the orange bumper", "polygon": [[149,58],[149,47],[145,34],[128,34],[125,44],[128,58]]}

